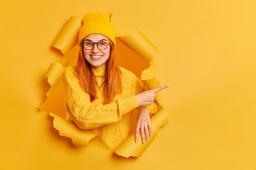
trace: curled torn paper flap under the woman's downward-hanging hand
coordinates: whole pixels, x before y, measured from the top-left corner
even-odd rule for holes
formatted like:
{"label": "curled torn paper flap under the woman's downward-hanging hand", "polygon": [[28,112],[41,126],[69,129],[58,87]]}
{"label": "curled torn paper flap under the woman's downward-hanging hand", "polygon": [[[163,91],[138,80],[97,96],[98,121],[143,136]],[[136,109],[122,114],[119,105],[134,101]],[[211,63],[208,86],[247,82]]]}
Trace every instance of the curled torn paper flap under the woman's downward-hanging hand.
{"label": "curled torn paper flap under the woman's downward-hanging hand", "polygon": [[153,141],[157,135],[157,131],[161,126],[168,123],[168,112],[162,108],[151,118],[152,136],[148,138],[144,144],[141,142],[141,135],[139,133],[138,141],[135,142],[135,134],[133,133],[123,144],[121,144],[116,150],[117,155],[123,157],[140,157],[146,150],[148,145]]}

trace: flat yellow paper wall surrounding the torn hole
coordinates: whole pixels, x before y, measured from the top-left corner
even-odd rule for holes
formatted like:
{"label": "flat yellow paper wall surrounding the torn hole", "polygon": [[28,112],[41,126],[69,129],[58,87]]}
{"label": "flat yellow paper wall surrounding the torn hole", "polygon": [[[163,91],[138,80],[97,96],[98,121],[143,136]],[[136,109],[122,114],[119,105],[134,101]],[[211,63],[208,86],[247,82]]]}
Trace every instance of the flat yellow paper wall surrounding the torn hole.
{"label": "flat yellow paper wall surrounding the torn hole", "polygon": [[[254,0],[32,0],[0,6],[0,169],[256,169]],[[112,12],[117,36],[138,29],[158,48],[158,93],[169,123],[139,158],[113,154],[99,137],[74,146],[38,108],[52,42],[70,16]],[[136,61],[135,61],[136,62]]]}

